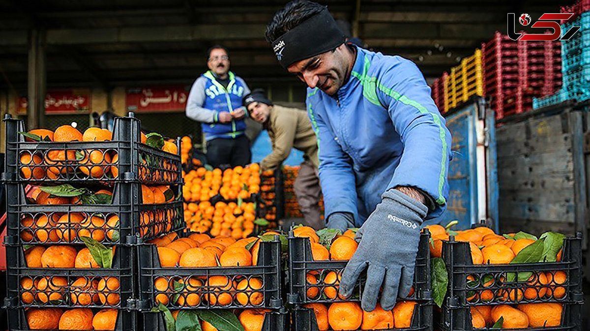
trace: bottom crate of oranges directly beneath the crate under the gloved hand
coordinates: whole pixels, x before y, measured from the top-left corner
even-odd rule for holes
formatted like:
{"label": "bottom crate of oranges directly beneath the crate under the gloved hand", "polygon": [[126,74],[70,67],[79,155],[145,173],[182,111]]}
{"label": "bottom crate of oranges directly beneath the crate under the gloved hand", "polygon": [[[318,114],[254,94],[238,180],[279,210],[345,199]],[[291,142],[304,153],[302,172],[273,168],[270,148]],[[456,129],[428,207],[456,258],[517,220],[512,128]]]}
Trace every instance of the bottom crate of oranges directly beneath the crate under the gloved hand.
{"label": "bottom crate of oranges directly beneath the crate under the gloved hand", "polygon": [[408,300],[366,312],[358,302],[307,303],[293,309],[291,323],[297,331],[432,330],[432,307]]}

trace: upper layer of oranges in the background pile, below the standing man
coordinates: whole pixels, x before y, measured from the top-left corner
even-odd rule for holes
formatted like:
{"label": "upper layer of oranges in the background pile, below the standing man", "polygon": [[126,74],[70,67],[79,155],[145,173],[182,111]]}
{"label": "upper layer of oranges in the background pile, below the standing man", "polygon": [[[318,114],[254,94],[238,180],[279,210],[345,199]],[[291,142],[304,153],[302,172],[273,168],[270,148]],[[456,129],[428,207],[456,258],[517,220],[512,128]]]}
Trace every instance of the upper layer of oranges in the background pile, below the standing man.
{"label": "upper layer of oranges in the background pile, below the standing man", "polygon": [[182,176],[185,180],[182,188],[185,201],[209,201],[218,194],[224,200],[245,200],[260,191],[260,166],[257,163],[224,171],[219,168],[209,171],[200,167]]}

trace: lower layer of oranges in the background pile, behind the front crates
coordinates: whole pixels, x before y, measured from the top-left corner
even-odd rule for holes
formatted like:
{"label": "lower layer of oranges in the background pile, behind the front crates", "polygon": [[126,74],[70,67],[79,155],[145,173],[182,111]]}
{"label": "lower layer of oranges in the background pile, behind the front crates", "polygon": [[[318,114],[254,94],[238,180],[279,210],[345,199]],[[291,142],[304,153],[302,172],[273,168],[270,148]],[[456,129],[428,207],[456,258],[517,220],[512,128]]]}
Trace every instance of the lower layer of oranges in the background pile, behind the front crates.
{"label": "lower layer of oranges in the background pile, behind the front crates", "polygon": [[254,203],[219,201],[214,206],[209,201],[185,203],[186,227],[193,232],[210,233],[211,236],[228,236],[234,239],[248,237],[254,231]]}

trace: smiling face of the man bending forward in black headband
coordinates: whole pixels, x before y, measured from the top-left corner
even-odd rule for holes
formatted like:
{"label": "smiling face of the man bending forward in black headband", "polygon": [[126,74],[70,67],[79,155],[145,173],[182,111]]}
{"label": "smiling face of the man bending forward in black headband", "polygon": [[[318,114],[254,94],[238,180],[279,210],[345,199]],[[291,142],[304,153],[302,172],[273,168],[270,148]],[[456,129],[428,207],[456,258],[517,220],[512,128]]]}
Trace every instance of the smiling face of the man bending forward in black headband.
{"label": "smiling face of the man bending forward in black headband", "polygon": [[346,44],[342,44],[333,51],[297,61],[287,70],[297,75],[310,88],[317,87],[327,95],[334,95],[346,80],[346,51]]}

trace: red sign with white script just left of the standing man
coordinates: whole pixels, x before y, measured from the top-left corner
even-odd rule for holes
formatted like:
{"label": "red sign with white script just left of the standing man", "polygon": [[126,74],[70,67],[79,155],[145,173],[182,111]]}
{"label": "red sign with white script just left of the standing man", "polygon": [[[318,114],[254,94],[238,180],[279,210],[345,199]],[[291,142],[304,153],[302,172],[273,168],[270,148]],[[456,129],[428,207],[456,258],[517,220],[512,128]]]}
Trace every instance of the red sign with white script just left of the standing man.
{"label": "red sign with white script just left of the standing man", "polygon": [[189,87],[156,86],[129,88],[125,96],[127,111],[173,112],[184,111]]}

